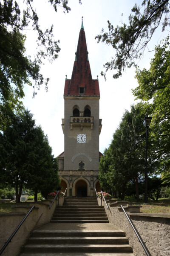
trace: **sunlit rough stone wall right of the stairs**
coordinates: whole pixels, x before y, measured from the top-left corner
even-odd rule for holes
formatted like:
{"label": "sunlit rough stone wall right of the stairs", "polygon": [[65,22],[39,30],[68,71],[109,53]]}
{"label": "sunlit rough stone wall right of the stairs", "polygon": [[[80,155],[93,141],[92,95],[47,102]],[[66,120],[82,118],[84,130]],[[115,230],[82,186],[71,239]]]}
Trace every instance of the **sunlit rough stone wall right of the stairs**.
{"label": "sunlit rough stone wall right of the stairs", "polygon": [[[124,206],[127,204],[125,202],[112,203],[111,200],[108,200],[107,203],[109,209],[107,209],[104,200],[102,200],[102,205],[105,206],[110,223],[126,232],[129,244],[133,247],[134,255],[146,256],[133,228],[120,207],[121,204]],[[98,198],[98,204],[101,205],[100,198]],[[151,256],[170,256],[170,214],[140,213],[139,207],[138,209],[126,206],[124,208],[146,244]],[[135,213],[135,211],[137,212]]]}

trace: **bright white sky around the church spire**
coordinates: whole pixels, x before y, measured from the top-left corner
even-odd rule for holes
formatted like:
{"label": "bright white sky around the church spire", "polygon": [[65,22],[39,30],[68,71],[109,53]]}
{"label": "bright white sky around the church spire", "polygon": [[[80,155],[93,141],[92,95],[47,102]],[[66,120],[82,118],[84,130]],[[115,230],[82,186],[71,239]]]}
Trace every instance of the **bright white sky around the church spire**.
{"label": "bright white sky around the church spire", "polygon": [[[60,40],[59,57],[52,64],[45,61],[41,72],[43,76],[49,77],[48,92],[46,93],[42,87],[35,99],[32,99],[32,87],[25,86],[25,98],[23,103],[31,113],[34,114],[36,124],[42,126],[42,130],[48,135],[49,143],[53,149],[53,154],[57,157],[64,151],[64,134],[62,133],[61,119],[64,118],[64,84],[65,75],[71,78],[74,64],[75,52],[81,28],[82,16],[88,45],[89,61],[93,79],[99,76],[100,87],[100,118],[102,119],[102,131],[100,134],[99,150],[103,152],[111,143],[112,136],[116,128],[119,126],[125,109],[130,110],[130,105],[136,103],[131,89],[137,86],[134,79],[135,69],[132,67],[127,69],[119,79],[113,79],[113,71],[107,73],[105,81],[100,72],[103,64],[111,60],[114,56],[113,48],[103,43],[97,44],[94,39],[102,28],[107,31],[108,20],[113,26],[120,25],[121,22],[128,22],[130,10],[134,4],[141,4],[142,0],[82,0],[79,5],[78,0],[68,1],[71,11],[64,14],[61,8],[57,13],[54,12],[48,0],[34,1],[34,8],[37,9],[39,15],[40,26],[44,29],[54,24],[54,37]],[[36,53],[35,41],[36,33],[31,30],[26,31],[26,53],[34,55]],[[138,62],[141,69],[149,68],[150,58],[153,57],[155,44],[163,39],[165,34],[159,29],[150,41],[149,48],[145,50],[145,54]]]}

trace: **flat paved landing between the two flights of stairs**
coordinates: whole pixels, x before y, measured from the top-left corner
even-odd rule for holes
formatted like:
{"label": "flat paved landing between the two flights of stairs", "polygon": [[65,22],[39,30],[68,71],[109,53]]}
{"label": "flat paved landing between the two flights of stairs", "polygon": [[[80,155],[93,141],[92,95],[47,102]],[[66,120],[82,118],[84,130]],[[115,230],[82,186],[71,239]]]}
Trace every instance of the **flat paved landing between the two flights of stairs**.
{"label": "flat paved landing between the two flights of stairs", "polygon": [[119,230],[110,223],[48,223],[37,230]]}

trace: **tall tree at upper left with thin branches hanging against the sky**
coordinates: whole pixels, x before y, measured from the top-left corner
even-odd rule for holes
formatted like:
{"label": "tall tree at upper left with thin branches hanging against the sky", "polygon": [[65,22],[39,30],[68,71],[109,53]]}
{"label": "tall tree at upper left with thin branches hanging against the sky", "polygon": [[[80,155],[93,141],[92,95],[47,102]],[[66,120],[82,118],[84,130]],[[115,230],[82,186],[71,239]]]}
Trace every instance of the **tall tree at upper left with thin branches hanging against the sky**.
{"label": "tall tree at upper left with thin branches hanging against the sky", "polygon": [[[49,0],[57,12],[57,6],[62,6],[65,12],[71,9],[68,0]],[[18,110],[23,98],[23,86],[28,84],[40,89],[45,84],[48,89],[49,79],[40,73],[42,61],[48,58],[53,61],[60,51],[59,40],[54,40],[53,25],[42,31],[37,12],[34,10],[33,0],[26,0],[23,13],[19,4],[13,0],[0,1],[0,129],[10,123],[11,111]],[[81,3],[81,0],[79,0]],[[31,59],[26,55],[26,29],[32,23],[32,29],[37,32],[37,56]]]}

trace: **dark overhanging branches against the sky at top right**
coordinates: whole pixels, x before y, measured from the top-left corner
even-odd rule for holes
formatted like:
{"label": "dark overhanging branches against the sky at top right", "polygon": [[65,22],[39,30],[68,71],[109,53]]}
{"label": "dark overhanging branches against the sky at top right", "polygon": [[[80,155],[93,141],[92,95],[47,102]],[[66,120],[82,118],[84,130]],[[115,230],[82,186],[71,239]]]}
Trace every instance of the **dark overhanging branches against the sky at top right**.
{"label": "dark overhanging branches against the sky at top right", "polygon": [[[104,65],[106,72],[109,69],[117,71],[113,74],[115,79],[122,75],[125,67],[136,66],[135,61],[139,61],[159,26],[164,31],[170,25],[169,0],[143,0],[142,8],[135,4],[131,11],[128,25],[122,23],[122,26],[113,27],[108,20],[109,31],[102,29],[102,34],[96,36],[98,43],[105,42],[116,50],[116,55]],[[101,74],[105,77],[105,73]]]}

